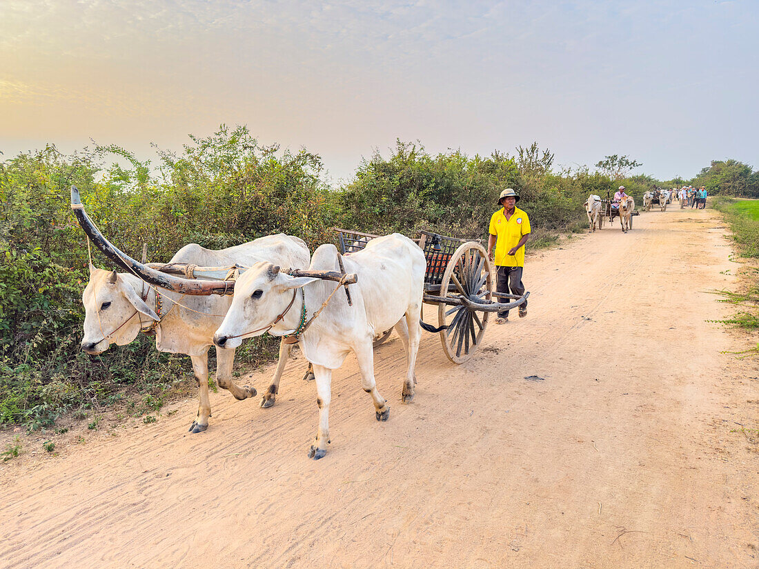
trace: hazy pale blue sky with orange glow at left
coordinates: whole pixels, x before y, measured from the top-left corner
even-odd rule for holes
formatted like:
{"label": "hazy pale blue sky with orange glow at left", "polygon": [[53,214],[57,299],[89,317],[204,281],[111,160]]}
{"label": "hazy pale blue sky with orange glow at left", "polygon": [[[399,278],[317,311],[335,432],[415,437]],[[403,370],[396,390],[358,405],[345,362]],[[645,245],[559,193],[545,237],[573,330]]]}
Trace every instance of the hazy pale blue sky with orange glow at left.
{"label": "hazy pale blue sky with orange glow at left", "polygon": [[247,124],[335,180],[396,138],[759,168],[759,2],[0,0],[0,150]]}

